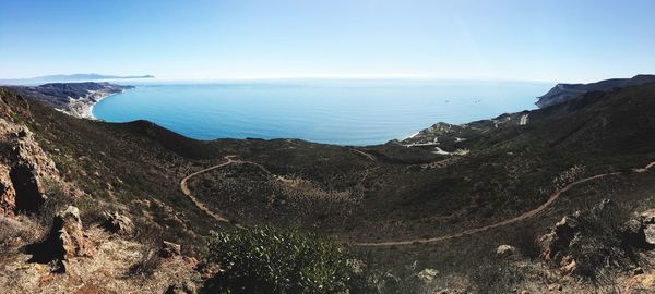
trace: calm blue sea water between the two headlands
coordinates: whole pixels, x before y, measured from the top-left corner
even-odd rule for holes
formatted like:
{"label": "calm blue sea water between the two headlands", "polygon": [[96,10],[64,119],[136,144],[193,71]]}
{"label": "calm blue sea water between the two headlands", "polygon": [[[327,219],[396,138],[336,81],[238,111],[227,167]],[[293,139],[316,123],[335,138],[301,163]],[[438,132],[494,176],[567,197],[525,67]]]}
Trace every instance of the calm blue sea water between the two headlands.
{"label": "calm blue sea water between the two headlands", "polygon": [[371,145],[405,138],[437,122],[460,124],[534,109],[536,97],[552,84],[262,81],[135,86],[103,99],[93,114],[108,122],[148,120],[199,139],[301,138]]}

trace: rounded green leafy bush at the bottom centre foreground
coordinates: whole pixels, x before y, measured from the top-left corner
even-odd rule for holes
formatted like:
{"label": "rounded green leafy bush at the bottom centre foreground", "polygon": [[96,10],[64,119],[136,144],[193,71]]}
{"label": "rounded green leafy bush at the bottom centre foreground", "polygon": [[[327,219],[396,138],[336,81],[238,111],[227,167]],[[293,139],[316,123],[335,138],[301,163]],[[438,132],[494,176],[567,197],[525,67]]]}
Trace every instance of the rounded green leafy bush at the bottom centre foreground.
{"label": "rounded green leafy bush at the bottom centre foreground", "polygon": [[222,293],[334,293],[352,273],[343,246],[271,226],[212,232],[207,259],[222,271],[205,290]]}

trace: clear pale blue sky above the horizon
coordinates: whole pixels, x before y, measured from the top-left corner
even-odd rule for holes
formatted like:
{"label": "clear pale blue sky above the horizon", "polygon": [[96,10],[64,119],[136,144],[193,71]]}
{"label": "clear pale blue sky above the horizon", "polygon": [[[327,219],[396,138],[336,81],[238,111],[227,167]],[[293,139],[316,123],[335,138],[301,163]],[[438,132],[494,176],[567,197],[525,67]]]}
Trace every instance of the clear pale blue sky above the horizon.
{"label": "clear pale blue sky above the horizon", "polygon": [[0,0],[0,78],[655,72],[655,1]]}

